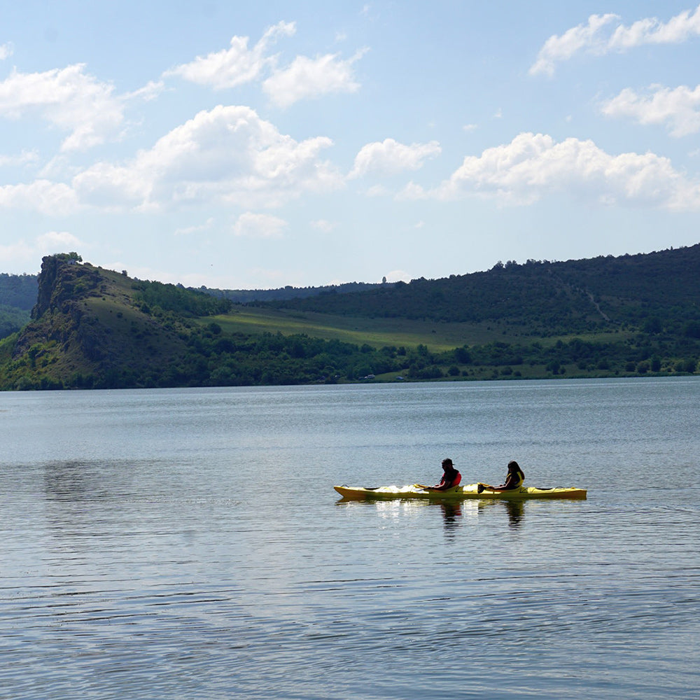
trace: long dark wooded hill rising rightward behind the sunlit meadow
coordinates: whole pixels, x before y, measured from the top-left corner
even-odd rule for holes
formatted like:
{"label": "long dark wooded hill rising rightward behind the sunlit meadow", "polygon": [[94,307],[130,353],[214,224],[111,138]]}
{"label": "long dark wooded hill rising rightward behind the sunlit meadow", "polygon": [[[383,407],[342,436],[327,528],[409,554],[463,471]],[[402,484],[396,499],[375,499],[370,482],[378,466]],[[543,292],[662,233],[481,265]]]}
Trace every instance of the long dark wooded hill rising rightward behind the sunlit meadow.
{"label": "long dark wooded hill rising rightward behind the sunlit meadow", "polygon": [[488,272],[414,279],[363,293],[331,290],[265,305],[342,316],[491,322],[539,337],[643,330],[647,323],[679,335],[700,324],[700,244],[619,258],[499,262]]}

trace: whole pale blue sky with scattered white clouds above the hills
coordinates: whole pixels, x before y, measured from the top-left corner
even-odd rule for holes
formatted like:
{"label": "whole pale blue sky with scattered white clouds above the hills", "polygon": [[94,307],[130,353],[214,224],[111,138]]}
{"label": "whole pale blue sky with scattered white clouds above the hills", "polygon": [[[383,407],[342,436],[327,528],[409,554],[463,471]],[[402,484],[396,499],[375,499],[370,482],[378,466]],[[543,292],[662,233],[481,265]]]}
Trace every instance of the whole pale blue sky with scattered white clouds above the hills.
{"label": "whole pale blue sky with scattered white clouds above the hills", "polygon": [[699,222],[692,2],[3,3],[0,272],[437,279]]}

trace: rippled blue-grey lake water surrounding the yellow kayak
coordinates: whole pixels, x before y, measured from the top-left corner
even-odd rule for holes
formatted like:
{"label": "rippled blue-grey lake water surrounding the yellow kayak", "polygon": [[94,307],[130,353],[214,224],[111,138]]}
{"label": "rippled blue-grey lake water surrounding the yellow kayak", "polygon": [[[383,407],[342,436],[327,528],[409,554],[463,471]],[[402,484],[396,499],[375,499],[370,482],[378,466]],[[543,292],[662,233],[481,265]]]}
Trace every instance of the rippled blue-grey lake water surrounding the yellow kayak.
{"label": "rippled blue-grey lake water surrounding the yellow kayak", "polygon": [[[0,698],[700,697],[700,381],[0,393]],[[586,501],[343,503],[498,482]]]}

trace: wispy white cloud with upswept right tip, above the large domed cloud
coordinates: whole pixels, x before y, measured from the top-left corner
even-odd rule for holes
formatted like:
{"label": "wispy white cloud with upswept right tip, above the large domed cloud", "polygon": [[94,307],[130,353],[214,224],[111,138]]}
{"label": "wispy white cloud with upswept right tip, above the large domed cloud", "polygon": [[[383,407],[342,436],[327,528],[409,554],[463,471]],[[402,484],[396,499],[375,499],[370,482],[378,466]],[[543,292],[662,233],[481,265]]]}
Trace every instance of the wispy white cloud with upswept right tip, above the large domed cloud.
{"label": "wispy white cloud with upswept right tip, above the large domed cloud", "polygon": [[163,73],[164,77],[179,76],[199,85],[211,85],[215,90],[225,90],[260,78],[262,72],[274,62],[267,55],[271,43],[279,36],[293,36],[294,22],[278,22],[269,27],[260,41],[248,49],[247,36],[233,36],[230,48],[198,56],[193,62],[176,66]]}

